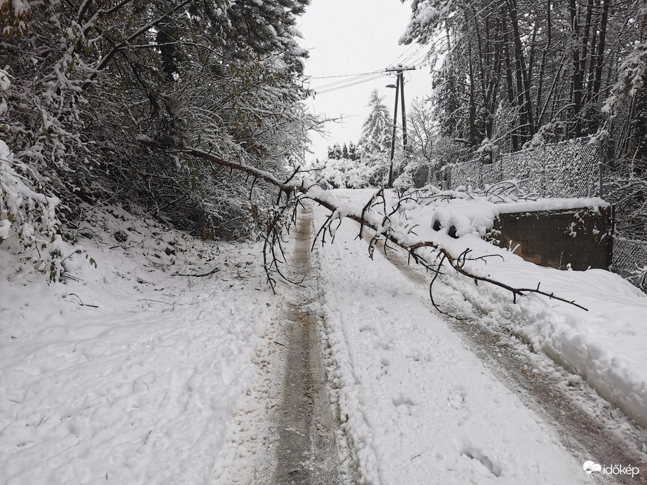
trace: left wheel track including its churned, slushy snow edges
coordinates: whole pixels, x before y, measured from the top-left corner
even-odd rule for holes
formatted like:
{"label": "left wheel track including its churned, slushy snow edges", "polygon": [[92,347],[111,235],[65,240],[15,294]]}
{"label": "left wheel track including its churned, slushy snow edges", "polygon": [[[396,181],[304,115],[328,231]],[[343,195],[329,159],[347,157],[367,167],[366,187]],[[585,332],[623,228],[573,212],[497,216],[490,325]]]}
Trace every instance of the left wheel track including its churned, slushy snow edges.
{"label": "left wheel track including its churned, slushy snow edges", "polygon": [[[297,279],[311,272],[311,214],[306,208],[299,219],[291,261]],[[232,411],[210,485],[353,485],[348,437],[331,404],[337,398],[326,374],[329,355],[322,355],[318,292],[281,288],[280,309],[257,348],[257,369]]]}

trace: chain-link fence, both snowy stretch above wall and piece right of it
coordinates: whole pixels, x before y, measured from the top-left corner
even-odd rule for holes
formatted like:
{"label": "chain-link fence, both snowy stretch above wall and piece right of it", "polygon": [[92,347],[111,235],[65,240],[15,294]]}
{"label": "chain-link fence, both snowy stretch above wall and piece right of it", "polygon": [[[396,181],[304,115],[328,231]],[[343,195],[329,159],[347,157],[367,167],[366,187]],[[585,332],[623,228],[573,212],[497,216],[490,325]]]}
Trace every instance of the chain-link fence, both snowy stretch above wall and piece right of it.
{"label": "chain-link fence, both snowy stretch above wall and piece right of it", "polygon": [[[599,144],[587,137],[534,149],[505,153],[493,163],[472,160],[442,168],[435,183],[443,189],[472,189],[503,180],[517,179],[540,197],[596,197],[600,195]],[[609,268],[647,292],[647,242],[613,239],[613,264]]]}

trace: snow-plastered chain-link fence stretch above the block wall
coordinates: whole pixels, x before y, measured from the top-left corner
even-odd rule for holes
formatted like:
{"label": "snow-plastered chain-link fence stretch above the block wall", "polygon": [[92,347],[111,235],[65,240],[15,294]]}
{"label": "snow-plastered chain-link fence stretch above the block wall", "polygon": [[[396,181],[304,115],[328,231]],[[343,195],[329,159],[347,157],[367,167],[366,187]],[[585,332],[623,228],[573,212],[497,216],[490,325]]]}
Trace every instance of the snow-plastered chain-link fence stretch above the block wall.
{"label": "snow-plastered chain-link fence stretch above the block wall", "polygon": [[454,163],[442,169],[443,186],[476,189],[517,179],[542,197],[594,197],[599,195],[598,150],[597,144],[584,137],[505,153],[493,163]]}

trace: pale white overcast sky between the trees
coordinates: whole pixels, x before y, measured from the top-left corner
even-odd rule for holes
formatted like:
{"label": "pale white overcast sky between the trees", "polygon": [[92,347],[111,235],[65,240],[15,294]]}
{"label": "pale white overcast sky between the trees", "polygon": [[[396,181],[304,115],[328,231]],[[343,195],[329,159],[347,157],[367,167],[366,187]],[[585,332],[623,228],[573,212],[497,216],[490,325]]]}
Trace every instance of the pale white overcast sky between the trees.
{"label": "pale white overcast sky between the trees", "polygon": [[[313,0],[299,23],[304,46],[310,50],[306,75],[315,78],[361,74],[383,71],[394,64],[411,65],[415,62],[418,70],[404,74],[407,107],[414,97],[429,95],[429,67],[421,65],[426,49],[416,53],[421,46],[400,46],[397,43],[407,27],[410,13],[409,1],[402,4],[399,0]],[[344,79],[313,79],[311,88]],[[374,81],[322,93],[316,95],[314,100],[308,100],[316,114],[325,114],[329,118],[340,115],[348,117],[343,124],[327,125],[328,139],[312,133],[312,150],[315,153],[309,158],[325,159],[327,146],[334,142],[357,143],[362,123],[369,113],[366,104],[374,88],[379,90],[381,96],[386,96],[384,103],[393,113],[395,90],[386,88],[387,84],[392,83],[395,84],[395,76],[384,73]],[[398,109],[399,120],[400,116]]]}

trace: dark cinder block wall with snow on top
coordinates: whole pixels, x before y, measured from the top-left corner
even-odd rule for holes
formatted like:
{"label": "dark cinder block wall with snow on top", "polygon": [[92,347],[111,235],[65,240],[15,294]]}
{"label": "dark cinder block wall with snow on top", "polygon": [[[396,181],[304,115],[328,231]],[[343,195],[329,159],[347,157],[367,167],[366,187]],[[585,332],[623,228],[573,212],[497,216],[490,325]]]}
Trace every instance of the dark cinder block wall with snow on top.
{"label": "dark cinder block wall with snow on top", "polygon": [[576,271],[611,265],[613,207],[500,214],[491,239],[526,261]]}

